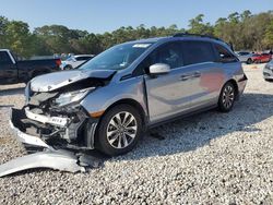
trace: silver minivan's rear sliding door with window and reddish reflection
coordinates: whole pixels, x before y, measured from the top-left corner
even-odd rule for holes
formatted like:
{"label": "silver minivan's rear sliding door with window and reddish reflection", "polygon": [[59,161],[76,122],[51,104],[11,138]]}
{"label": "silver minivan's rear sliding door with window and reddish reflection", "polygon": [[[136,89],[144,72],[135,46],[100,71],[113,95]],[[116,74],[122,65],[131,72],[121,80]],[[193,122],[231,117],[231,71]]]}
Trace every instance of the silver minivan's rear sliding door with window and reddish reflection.
{"label": "silver minivan's rear sliding door with window and reddish reflection", "polygon": [[191,85],[191,107],[201,109],[215,105],[225,74],[210,41],[187,40],[182,43],[187,81]]}

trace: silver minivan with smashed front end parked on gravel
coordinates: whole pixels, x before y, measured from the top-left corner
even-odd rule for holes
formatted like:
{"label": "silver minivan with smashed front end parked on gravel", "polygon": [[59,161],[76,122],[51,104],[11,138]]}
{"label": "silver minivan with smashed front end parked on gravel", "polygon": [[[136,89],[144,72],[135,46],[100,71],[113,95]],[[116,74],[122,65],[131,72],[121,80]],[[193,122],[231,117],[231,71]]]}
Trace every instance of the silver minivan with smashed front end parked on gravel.
{"label": "silver minivan with smashed front end parked on gravel", "polygon": [[32,80],[11,126],[27,147],[128,153],[143,132],[199,111],[233,109],[247,84],[230,47],[177,34],[115,46],[79,70]]}

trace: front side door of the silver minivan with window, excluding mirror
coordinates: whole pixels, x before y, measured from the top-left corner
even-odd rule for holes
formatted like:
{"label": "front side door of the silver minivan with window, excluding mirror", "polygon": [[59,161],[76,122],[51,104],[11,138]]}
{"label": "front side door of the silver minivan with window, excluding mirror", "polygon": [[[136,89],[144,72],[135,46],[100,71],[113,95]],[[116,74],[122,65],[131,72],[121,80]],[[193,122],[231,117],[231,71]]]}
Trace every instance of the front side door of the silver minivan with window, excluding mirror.
{"label": "front side door of the silver minivan with window, excluding mirror", "polygon": [[140,67],[146,69],[155,63],[170,65],[168,74],[151,76],[144,75],[147,95],[150,120],[152,123],[167,120],[187,111],[191,106],[192,87],[185,74],[189,68],[183,68],[180,41],[167,43],[152,52]]}

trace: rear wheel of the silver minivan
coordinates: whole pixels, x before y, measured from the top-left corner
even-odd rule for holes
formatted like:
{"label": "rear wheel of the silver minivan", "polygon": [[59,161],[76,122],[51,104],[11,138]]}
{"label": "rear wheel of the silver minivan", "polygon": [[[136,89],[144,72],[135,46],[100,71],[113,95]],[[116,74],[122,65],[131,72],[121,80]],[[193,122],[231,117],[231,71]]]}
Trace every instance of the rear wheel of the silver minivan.
{"label": "rear wheel of the silver minivan", "polygon": [[218,110],[221,112],[229,112],[233,107],[236,99],[236,89],[233,83],[227,82],[219,94],[218,99]]}

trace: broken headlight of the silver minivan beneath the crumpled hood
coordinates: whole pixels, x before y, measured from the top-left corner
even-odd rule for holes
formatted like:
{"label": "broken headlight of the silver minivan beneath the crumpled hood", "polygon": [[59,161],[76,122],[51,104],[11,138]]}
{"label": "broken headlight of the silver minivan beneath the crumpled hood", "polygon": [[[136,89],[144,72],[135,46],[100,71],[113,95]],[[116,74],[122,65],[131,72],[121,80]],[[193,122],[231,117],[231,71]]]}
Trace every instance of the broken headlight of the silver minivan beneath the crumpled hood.
{"label": "broken headlight of the silver minivan beneath the crumpled hood", "polygon": [[61,94],[55,101],[58,106],[67,106],[72,102],[78,102],[82,100],[90,92],[94,91],[96,87],[90,87],[87,89],[81,89],[76,92],[70,92]]}

